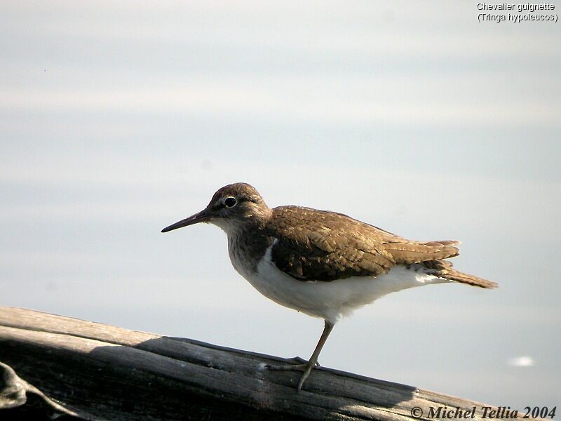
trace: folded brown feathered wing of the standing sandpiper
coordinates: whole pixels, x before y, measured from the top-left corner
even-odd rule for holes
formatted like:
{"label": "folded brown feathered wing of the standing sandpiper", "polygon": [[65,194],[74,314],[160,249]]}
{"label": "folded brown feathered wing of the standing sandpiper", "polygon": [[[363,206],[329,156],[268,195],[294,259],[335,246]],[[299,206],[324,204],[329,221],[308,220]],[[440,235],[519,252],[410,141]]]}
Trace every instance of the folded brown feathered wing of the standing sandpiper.
{"label": "folded brown feathered wing of the standing sandpiper", "polygon": [[[271,250],[276,266],[303,281],[378,276],[398,264],[451,258],[457,241],[410,241],[341,213],[281,206],[273,209]],[[274,227],[274,228],[272,228]]]}

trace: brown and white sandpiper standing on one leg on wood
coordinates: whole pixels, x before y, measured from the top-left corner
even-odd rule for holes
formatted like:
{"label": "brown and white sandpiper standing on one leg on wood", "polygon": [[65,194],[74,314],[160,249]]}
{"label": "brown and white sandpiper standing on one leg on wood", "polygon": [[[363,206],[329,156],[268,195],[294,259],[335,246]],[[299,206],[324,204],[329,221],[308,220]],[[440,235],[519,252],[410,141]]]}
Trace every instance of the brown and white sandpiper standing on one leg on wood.
{"label": "brown and white sandpiper standing on one leg on wood", "polygon": [[[221,187],[201,212],[162,229],[199,222],[217,225],[228,237],[234,269],[273,302],[323,319],[308,361],[266,365],[299,370],[300,391],[335,323],[382,296],[434,283],[496,288],[492,281],[458,272],[448,260],[460,241],[412,241],[343,213],[303,206],[269,208],[255,187]],[[303,362],[302,362],[303,361]]]}

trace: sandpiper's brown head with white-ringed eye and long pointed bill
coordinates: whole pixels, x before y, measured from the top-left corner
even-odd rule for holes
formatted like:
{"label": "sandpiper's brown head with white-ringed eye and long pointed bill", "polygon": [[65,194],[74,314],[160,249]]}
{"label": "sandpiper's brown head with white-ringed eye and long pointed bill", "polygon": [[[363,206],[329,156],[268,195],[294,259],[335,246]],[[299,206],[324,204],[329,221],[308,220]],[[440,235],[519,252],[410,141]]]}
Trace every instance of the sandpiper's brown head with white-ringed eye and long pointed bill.
{"label": "sandpiper's brown head with white-ringed eye and long pointed bill", "polygon": [[255,187],[245,182],[224,186],[212,196],[208,206],[199,213],[175,222],[162,229],[168,232],[198,222],[208,222],[224,229],[228,235],[251,225],[264,225],[271,218],[271,209],[266,205]]}

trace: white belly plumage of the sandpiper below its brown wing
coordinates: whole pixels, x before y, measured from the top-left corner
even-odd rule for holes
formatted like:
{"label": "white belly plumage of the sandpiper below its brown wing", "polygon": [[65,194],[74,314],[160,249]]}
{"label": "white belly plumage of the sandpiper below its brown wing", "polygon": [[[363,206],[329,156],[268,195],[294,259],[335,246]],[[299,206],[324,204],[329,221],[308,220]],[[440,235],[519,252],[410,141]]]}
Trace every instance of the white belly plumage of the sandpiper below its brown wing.
{"label": "white belly plumage of the sandpiper below its brown wing", "polygon": [[257,265],[257,272],[245,270],[240,262],[236,262],[235,256],[230,255],[230,258],[236,270],[266,298],[332,323],[388,293],[450,282],[421,270],[407,269],[404,265],[393,267],[387,274],[375,278],[353,276],[330,282],[299,281],[276,267],[271,260],[271,248]]}

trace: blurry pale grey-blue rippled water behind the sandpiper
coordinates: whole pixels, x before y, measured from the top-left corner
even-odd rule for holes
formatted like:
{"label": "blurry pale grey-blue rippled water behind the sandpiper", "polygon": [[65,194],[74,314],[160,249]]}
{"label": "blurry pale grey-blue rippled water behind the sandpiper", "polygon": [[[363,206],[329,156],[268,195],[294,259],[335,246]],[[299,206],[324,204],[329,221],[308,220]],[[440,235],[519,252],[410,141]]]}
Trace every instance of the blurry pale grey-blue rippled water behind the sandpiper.
{"label": "blurry pale grey-blue rippled water behind the sandpiper", "polygon": [[219,229],[160,233],[245,181],[460,239],[500,284],[387,296],[323,366],[560,404],[560,28],[475,1],[3,1],[0,305],[307,358],[323,322],[253,290]]}

